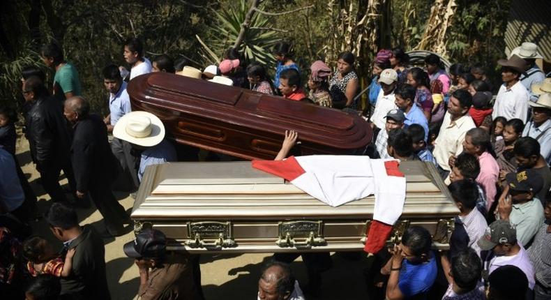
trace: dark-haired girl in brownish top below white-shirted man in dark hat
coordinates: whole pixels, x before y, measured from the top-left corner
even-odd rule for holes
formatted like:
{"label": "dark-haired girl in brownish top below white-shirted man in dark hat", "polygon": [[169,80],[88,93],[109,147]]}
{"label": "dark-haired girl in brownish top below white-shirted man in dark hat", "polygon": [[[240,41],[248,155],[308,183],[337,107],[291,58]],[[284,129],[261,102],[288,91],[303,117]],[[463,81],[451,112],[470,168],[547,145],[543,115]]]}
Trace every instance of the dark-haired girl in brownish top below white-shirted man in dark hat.
{"label": "dark-haired girl in brownish top below white-shirted man in dark hat", "polygon": [[497,165],[499,165],[499,181],[504,183],[505,175],[517,170],[515,159],[515,142],[522,136],[524,123],[521,119],[511,119],[505,123],[503,138],[495,142],[495,153]]}

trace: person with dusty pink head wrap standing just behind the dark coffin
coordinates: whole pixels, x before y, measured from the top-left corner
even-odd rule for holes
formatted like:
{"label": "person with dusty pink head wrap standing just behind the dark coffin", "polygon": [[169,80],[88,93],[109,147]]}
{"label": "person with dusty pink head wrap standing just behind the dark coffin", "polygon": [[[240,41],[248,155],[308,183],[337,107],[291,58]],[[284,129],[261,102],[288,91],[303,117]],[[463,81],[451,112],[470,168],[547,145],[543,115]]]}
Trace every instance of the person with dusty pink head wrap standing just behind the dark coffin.
{"label": "person with dusty pink head wrap standing just behind the dark coffin", "polygon": [[314,103],[320,106],[332,107],[333,101],[329,93],[329,76],[331,68],[323,61],[314,61],[310,66],[310,77],[308,77],[308,96]]}

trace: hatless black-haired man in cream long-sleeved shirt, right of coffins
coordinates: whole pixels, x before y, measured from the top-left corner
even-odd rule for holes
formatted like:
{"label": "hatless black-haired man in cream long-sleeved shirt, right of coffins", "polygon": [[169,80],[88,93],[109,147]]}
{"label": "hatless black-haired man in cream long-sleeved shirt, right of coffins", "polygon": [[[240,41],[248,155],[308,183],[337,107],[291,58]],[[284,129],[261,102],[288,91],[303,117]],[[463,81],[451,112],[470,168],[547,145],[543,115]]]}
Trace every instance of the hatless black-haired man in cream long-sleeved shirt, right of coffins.
{"label": "hatless black-haired man in cream long-sleeved shirt, right of coffins", "polygon": [[438,163],[442,178],[447,178],[453,167],[454,158],[463,151],[465,134],[475,128],[474,121],[467,114],[472,105],[472,96],[465,89],[454,91],[448,103],[448,112],[440,127],[440,133],[435,140],[435,150],[432,154]]}

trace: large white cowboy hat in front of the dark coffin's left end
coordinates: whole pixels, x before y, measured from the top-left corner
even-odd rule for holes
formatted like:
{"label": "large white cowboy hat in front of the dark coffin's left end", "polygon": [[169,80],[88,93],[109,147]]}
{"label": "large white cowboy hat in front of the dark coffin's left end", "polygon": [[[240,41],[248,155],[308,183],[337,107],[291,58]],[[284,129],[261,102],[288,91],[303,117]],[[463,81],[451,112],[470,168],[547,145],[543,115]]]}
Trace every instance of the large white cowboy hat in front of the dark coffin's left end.
{"label": "large white cowboy hat in front of the dark coffin's left end", "polygon": [[128,112],[113,128],[113,136],[143,147],[153,147],[165,138],[165,126],[151,112]]}

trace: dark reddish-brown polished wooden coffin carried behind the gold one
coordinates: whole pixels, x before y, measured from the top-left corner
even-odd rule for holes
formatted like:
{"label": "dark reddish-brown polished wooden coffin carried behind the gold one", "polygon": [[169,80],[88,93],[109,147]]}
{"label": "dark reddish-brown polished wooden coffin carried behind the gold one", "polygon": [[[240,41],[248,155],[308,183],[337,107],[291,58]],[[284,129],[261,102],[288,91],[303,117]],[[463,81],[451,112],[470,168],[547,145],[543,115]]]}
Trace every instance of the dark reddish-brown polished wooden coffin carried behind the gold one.
{"label": "dark reddish-brown polished wooden coffin carried behind the gold one", "polygon": [[169,73],[135,77],[128,94],[176,142],[244,159],[273,159],[285,130],[299,133],[297,155],[353,155],[372,139],[357,115]]}

